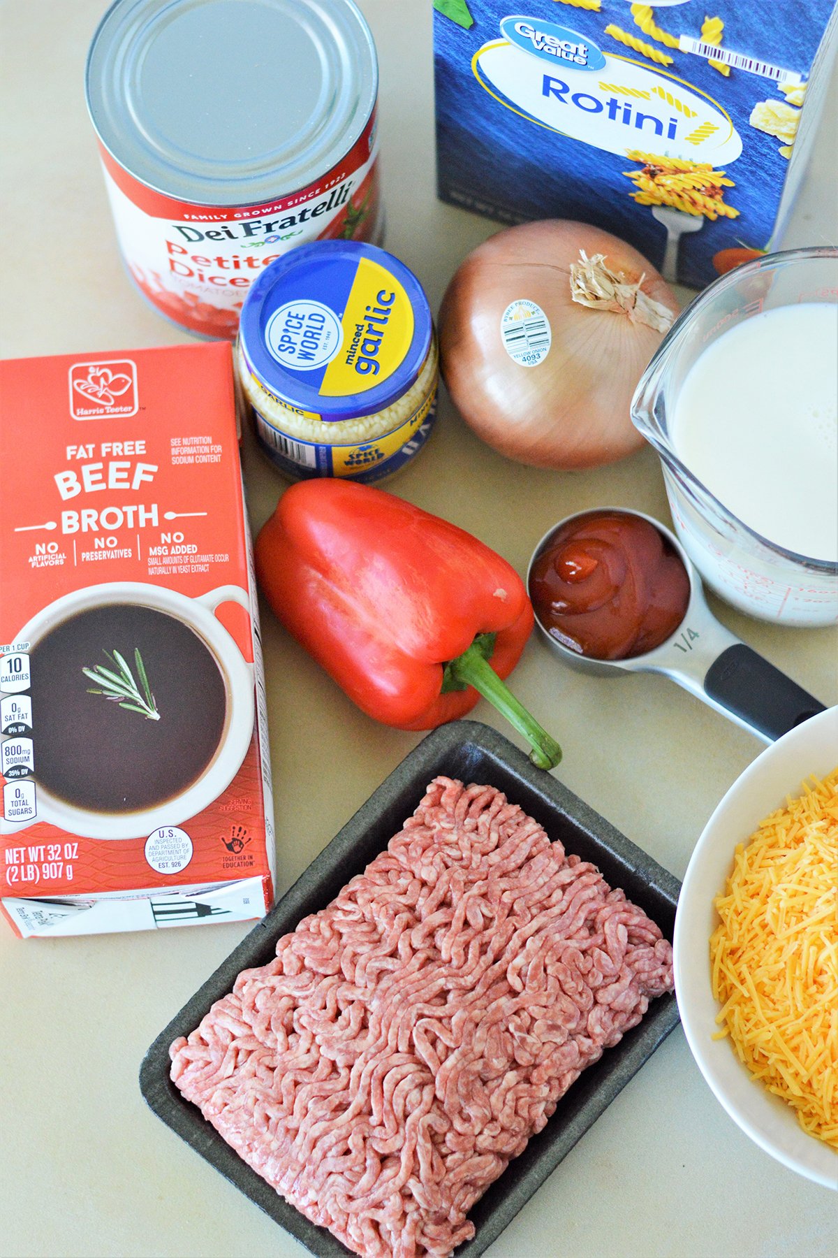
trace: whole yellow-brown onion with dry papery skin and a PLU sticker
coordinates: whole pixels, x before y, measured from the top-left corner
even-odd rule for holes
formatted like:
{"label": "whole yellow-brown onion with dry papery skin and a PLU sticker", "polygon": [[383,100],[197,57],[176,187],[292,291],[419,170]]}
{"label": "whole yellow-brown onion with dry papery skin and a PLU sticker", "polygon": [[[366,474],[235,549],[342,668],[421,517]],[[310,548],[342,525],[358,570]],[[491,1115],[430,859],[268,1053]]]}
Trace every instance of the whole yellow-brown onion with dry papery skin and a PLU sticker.
{"label": "whole yellow-brown onion with dry papery skin and a PLU sticker", "polygon": [[632,395],[678,306],[631,245],[583,223],[508,228],[440,311],[442,374],[466,423],[519,463],[584,468],[643,444]]}

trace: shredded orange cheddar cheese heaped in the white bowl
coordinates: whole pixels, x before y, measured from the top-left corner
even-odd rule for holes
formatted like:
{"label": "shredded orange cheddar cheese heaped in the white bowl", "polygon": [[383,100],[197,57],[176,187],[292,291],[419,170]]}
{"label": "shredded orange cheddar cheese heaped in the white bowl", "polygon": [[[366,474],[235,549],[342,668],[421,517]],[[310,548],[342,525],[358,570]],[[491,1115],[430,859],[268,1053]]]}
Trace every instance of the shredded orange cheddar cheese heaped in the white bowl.
{"label": "shredded orange cheddar cheese heaped in the white bowl", "polygon": [[710,941],[715,1038],[838,1149],[838,769],[736,848]]}

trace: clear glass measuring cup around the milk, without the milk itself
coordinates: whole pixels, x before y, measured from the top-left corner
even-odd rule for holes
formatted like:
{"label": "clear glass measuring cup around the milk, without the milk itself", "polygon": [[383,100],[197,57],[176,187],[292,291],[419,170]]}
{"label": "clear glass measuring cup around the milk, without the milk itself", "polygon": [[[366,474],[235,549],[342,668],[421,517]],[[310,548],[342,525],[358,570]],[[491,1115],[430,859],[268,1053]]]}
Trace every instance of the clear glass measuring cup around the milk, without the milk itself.
{"label": "clear glass measuring cup around the milk, without the milk itself", "polygon": [[800,302],[838,302],[837,248],[769,254],[722,276],[672,325],[637,386],[632,420],[661,457],[678,538],[716,594],[764,620],[824,625],[838,623],[838,564],[749,528],[683,465],[670,431],[678,391],[709,345],[763,311]]}

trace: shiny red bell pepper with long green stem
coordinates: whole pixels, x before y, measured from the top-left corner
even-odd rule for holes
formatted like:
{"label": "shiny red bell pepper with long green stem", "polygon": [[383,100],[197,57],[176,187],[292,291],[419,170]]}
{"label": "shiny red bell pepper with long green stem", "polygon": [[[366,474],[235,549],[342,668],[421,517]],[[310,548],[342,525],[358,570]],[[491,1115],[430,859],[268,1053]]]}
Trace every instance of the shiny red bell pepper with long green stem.
{"label": "shiny red bell pepper with long green stem", "polygon": [[533,743],[534,764],[559,762],[501,681],[533,629],[524,582],[462,528],[383,489],[302,481],[259,535],[256,574],[285,628],[368,716],[430,730],[482,694]]}

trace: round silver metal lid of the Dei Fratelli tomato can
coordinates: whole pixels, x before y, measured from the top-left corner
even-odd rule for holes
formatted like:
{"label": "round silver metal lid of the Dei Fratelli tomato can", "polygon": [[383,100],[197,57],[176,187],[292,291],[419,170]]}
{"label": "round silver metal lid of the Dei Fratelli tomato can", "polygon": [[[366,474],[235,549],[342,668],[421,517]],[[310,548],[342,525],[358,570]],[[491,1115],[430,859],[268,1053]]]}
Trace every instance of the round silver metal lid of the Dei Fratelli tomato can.
{"label": "round silver metal lid of the Dei Fratelli tomato can", "polygon": [[180,201],[258,205],[335,166],[376,103],[353,0],[116,0],[87,102],[108,152]]}

